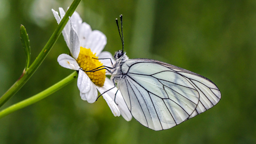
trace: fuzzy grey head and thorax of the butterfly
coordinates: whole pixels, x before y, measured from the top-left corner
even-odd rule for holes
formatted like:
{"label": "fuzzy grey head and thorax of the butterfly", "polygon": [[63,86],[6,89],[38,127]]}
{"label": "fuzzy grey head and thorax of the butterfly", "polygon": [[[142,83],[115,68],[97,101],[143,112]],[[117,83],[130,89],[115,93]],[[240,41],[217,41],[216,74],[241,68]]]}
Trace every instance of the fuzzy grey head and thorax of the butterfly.
{"label": "fuzzy grey head and thorax of the butterfly", "polygon": [[113,69],[111,70],[112,71],[111,80],[115,79],[115,82],[118,82],[119,79],[125,77],[125,73],[123,73],[123,71],[122,71],[122,66],[123,66],[124,62],[129,59],[127,57],[127,55],[125,54],[125,52],[122,53],[121,57],[119,57],[119,58],[116,57],[116,55],[118,55],[120,53],[121,53],[121,51],[118,51],[115,53],[114,58],[116,59],[116,63],[114,64]]}

